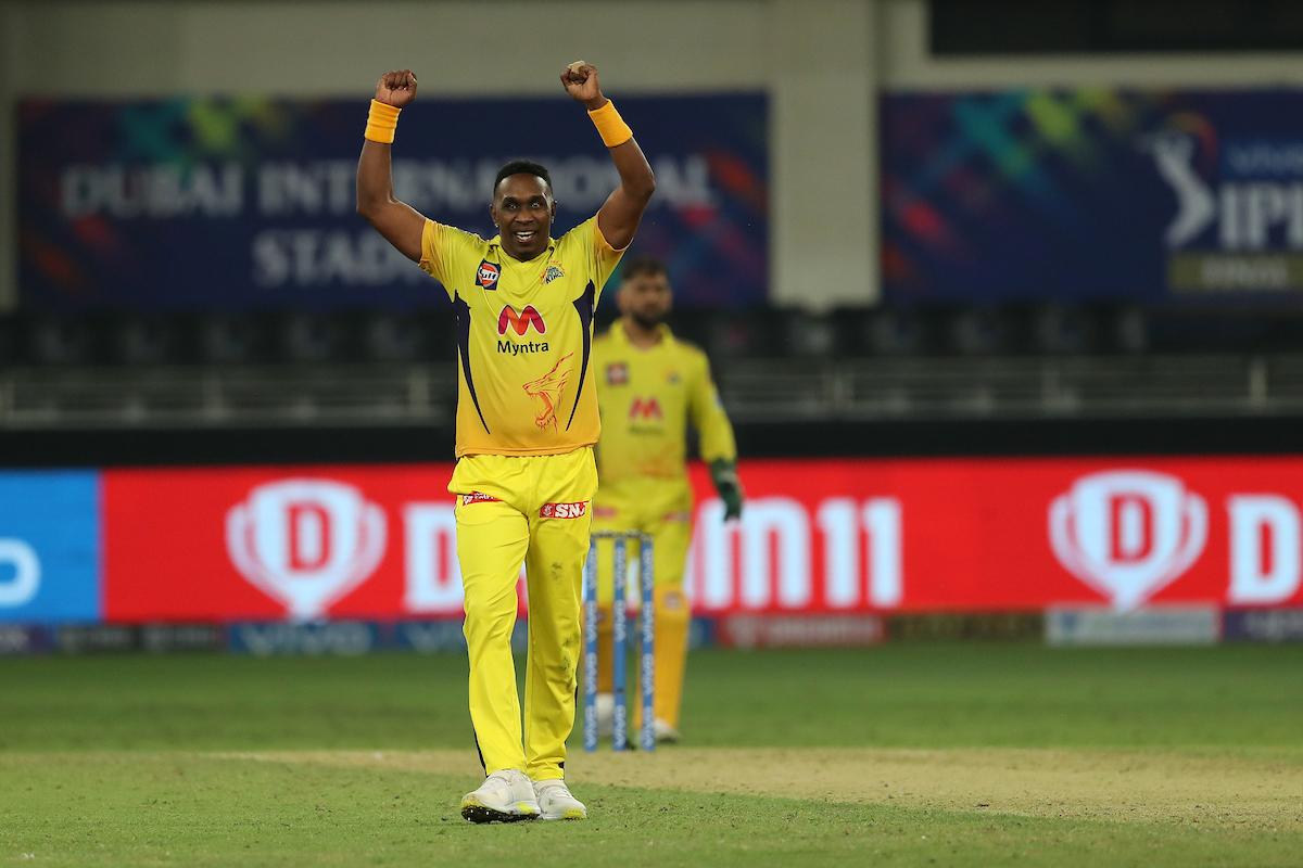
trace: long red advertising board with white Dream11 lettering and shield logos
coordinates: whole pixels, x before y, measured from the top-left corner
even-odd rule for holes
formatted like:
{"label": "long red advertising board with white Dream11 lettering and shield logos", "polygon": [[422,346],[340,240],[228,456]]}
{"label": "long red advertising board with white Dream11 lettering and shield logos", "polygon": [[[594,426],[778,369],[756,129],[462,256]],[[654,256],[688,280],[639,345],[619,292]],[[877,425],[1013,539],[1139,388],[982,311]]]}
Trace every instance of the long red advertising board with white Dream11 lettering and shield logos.
{"label": "long red advertising board with white Dream11 lettering and shield logos", "polygon": [[[106,617],[461,613],[451,466],[104,472]],[[698,613],[1303,604],[1303,458],[744,462],[704,472]]]}

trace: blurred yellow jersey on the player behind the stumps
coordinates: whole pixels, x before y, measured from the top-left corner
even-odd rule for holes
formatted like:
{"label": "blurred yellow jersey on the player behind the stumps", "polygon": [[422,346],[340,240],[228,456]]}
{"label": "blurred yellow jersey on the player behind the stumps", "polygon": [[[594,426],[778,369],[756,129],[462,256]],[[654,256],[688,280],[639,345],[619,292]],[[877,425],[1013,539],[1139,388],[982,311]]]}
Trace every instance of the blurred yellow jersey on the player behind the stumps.
{"label": "blurred yellow jersey on the player behind the stumps", "polygon": [[689,422],[700,436],[702,459],[737,458],[705,353],[676,340],[667,325],[654,346],[635,346],[619,321],[593,347],[602,407],[597,450],[602,485],[685,476]]}

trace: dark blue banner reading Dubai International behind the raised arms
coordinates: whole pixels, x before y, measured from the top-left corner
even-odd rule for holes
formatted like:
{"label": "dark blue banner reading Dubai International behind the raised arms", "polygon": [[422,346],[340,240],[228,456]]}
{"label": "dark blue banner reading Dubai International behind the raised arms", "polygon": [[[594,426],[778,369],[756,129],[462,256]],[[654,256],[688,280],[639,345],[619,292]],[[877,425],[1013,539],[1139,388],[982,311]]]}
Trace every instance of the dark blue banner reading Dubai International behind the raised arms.
{"label": "dark blue banner reading Dubai International behind the raised arms", "polygon": [[[758,94],[616,100],[657,173],[635,252],[668,263],[681,305],[767,293],[767,100]],[[446,305],[354,212],[365,96],[18,108],[20,286],[46,310]],[[394,144],[396,195],[491,237],[512,157],[549,167],[554,236],[618,183],[581,107],[554,99],[420,98]]]}

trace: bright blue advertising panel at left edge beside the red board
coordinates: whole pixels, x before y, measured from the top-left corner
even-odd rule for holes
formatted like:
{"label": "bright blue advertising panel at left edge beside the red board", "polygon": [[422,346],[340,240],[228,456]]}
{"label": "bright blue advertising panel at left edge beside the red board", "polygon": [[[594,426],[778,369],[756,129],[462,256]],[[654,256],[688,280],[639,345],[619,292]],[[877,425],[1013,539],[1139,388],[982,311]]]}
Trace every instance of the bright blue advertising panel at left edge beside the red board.
{"label": "bright blue advertising panel at left edge beside the red board", "polygon": [[102,614],[99,475],[0,474],[0,623]]}

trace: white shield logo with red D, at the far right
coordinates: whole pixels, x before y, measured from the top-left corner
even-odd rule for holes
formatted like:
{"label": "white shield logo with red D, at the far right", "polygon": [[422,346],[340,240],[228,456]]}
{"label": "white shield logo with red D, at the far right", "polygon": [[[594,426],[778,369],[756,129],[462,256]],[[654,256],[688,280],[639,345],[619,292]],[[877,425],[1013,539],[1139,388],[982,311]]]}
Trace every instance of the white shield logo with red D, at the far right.
{"label": "white shield logo with red D, at the far right", "polygon": [[1182,575],[1208,541],[1208,504],[1175,476],[1119,470],[1078,479],[1050,504],[1054,556],[1134,609]]}

